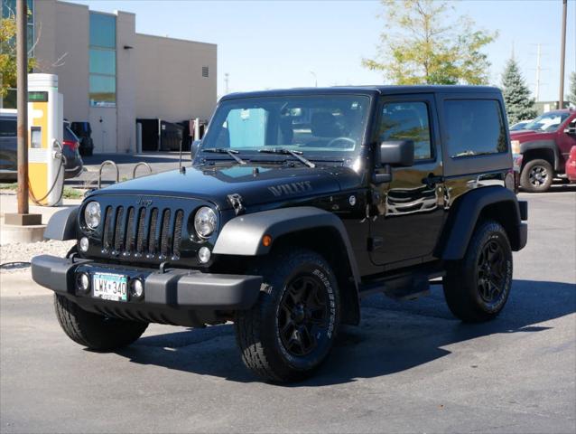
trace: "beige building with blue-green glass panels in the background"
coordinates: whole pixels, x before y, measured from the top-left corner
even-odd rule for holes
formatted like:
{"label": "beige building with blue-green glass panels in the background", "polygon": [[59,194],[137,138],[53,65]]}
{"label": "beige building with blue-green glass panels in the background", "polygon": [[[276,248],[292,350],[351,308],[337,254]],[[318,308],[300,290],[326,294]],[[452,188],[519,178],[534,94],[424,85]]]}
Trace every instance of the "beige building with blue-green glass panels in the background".
{"label": "beige building with blue-green glass panels in the background", "polygon": [[[3,1],[3,15],[14,0]],[[58,75],[64,118],[89,121],[95,152],[136,150],[136,119],[208,119],[217,46],[136,33],[135,14],[32,0],[35,72]],[[5,104],[6,107],[6,104]]]}

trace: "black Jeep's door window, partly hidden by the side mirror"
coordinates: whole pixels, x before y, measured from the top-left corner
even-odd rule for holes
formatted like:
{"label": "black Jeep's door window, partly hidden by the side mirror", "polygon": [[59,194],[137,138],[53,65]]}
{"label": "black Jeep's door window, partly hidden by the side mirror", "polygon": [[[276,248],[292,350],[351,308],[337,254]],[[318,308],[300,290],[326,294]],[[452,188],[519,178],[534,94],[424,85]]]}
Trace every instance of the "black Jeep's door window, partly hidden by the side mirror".
{"label": "black Jeep's door window, partly hidden by the side mirror", "polygon": [[413,140],[414,159],[432,158],[428,106],[424,102],[390,102],[382,109],[379,140]]}

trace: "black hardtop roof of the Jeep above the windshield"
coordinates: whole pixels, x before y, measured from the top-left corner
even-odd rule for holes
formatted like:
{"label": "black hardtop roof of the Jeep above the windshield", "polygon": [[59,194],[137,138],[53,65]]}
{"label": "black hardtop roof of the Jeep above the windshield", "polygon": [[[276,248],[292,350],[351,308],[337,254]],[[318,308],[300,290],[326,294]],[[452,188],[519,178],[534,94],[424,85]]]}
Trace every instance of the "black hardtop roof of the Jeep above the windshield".
{"label": "black hardtop roof of the Jeep above the windshield", "polygon": [[220,100],[277,97],[291,95],[342,95],[342,94],[365,94],[365,95],[398,95],[404,93],[500,93],[500,90],[492,86],[460,86],[460,85],[430,85],[430,86],[334,86],[330,88],[293,88],[276,90],[256,90],[251,92],[236,92],[225,95]]}

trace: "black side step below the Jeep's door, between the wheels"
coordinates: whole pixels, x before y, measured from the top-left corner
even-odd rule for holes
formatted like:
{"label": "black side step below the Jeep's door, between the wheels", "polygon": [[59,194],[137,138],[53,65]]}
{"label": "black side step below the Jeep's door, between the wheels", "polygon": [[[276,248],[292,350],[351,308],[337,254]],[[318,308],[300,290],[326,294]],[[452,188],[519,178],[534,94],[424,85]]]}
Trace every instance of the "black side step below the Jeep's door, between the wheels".
{"label": "black side step below the Jeep's door, between the wheels", "polygon": [[[360,298],[364,298],[382,292],[387,297],[396,300],[414,300],[419,297],[429,296],[431,285],[430,280],[441,278],[444,275],[444,271],[439,271],[432,274],[406,273],[404,275],[382,278],[361,285],[359,288],[359,295]],[[438,283],[440,283],[438,280],[432,282],[432,284]]]}

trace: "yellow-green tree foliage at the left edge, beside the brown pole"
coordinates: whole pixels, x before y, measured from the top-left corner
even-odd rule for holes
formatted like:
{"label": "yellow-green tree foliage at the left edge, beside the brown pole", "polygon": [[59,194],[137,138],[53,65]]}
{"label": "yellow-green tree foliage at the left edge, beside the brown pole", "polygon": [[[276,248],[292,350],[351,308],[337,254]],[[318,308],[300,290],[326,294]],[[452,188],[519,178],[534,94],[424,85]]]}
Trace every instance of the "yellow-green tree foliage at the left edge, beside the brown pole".
{"label": "yellow-green tree foliage at the left edge, beside the brown pole", "polygon": [[[36,65],[28,58],[28,71]],[[0,20],[0,96],[5,98],[8,89],[16,87],[16,19],[14,14]]]}

